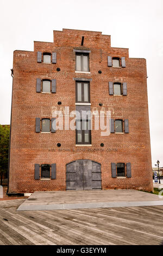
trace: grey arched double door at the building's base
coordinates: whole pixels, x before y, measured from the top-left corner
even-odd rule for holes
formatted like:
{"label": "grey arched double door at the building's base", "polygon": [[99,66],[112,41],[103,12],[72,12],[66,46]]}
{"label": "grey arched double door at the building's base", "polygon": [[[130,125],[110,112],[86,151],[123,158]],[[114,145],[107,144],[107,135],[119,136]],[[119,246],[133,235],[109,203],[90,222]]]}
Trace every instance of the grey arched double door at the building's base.
{"label": "grey arched double door at the building's base", "polygon": [[66,165],[66,190],[93,189],[102,189],[101,164],[80,159]]}

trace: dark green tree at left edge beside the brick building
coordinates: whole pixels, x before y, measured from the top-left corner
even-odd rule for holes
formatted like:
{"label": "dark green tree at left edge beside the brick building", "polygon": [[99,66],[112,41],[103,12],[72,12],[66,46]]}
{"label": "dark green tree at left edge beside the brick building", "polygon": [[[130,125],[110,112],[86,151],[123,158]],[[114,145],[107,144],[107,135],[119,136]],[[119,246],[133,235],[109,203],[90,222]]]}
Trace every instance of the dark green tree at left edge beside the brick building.
{"label": "dark green tree at left edge beside the brick building", "polygon": [[5,174],[8,171],[9,136],[10,136],[10,127],[8,125],[2,126],[0,124],[0,175],[1,175],[1,185],[2,185],[3,174]]}

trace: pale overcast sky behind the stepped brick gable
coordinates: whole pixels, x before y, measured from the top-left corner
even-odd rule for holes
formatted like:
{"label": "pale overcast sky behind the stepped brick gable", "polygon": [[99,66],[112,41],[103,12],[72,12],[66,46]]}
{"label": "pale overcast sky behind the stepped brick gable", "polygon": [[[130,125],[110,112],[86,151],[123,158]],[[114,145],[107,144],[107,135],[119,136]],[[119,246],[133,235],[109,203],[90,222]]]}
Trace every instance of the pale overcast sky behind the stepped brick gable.
{"label": "pale overcast sky behind the stepped brick gable", "polygon": [[147,59],[152,164],[163,166],[163,1],[0,0],[0,123],[10,123],[13,51],[33,51],[33,41],[53,41],[62,28],[101,31],[112,47]]}

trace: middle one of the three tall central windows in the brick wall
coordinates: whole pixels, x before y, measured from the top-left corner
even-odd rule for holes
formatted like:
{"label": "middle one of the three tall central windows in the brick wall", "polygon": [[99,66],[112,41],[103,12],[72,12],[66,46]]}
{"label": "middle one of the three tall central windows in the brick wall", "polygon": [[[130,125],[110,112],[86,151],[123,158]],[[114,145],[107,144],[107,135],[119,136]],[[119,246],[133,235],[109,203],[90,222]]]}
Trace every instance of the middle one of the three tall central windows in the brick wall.
{"label": "middle one of the three tall central windows in the brick wall", "polygon": [[76,82],[76,102],[90,103],[90,84],[89,82]]}

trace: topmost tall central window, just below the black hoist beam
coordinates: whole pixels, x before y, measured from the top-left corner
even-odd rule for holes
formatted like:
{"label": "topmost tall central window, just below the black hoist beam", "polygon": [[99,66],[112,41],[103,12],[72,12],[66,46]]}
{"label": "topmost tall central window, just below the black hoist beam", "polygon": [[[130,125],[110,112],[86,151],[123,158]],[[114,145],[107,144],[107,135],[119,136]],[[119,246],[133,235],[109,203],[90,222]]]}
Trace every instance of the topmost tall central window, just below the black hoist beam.
{"label": "topmost tall central window, just below the black hoist beam", "polygon": [[89,53],[76,53],[76,71],[89,72]]}

